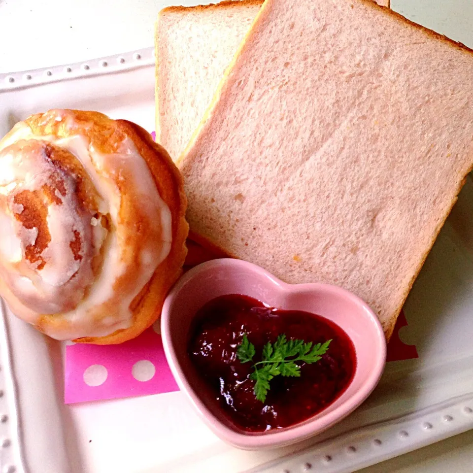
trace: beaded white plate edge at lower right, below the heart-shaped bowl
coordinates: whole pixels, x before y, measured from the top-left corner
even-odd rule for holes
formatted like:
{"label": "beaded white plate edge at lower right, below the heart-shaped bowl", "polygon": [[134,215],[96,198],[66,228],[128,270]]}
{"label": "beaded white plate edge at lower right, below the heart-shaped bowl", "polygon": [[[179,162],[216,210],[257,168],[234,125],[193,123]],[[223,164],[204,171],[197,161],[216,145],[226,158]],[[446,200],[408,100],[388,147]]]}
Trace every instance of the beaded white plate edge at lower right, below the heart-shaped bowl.
{"label": "beaded white plate edge at lower right, below the heart-shaped bowl", "polygon": [[366,425],[247,473],[350,473],[473,429],[473,393]]}

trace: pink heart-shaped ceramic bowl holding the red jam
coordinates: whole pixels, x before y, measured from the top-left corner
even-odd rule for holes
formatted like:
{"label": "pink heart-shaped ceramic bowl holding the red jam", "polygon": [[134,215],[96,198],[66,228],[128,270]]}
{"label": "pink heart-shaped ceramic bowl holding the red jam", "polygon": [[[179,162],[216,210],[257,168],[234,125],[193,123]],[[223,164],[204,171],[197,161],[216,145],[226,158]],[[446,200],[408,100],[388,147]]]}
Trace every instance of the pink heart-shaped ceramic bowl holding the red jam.
{"label": "pink heart-shaped ceramic bowl holding the red jam", "polygon": [[[210,300],[228,294],[250,296],[271,307],[318,314],[343,329],[355,348],[356,369],[341,396],[323,411],[290,427],[256,433],[236,427],[215,401],[187,353],[197,311]],[[203,421],[222,440],[247,450],[289,445],[328,429],[363,403],[386,363],[383,330],[360,298],[328,284],[287,284],[256,265],[236,259],[212,260],[188,271],[164,303],[161,334],[176,382]]]}

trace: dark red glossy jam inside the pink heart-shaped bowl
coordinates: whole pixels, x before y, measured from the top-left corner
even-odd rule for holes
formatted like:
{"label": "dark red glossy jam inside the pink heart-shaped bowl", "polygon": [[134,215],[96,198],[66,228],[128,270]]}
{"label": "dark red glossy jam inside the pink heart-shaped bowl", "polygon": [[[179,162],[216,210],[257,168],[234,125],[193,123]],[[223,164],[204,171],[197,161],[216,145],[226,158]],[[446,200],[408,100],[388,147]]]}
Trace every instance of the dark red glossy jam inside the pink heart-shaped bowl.
{"label": "dark red glossy jam inside the pink heart-shaped bowl", "polygon": [[[216,402],[236,427],[247,432],[281,429],[308,419],[332,404],[353,378],[353,343],[338,325],[319,315],[229,295],[205,304],[195,320],[189,356]],[[318,362],[298,362],[300,377],[275,376],[263,403],[256,399],[255,381],[249,378],[254,363],[241,363],[236,354],[244,334],[255,345],[254,361],[261,360],[263,345],[281,334],[314,344],[332,342]]]}

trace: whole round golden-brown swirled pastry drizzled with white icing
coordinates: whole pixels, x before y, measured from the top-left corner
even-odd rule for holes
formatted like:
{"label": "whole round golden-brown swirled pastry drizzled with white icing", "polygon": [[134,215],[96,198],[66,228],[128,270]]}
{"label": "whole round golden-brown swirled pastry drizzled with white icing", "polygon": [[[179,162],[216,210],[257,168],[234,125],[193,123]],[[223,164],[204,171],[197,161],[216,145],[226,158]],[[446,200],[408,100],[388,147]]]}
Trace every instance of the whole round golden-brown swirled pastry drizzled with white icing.
{"label": "whole round golden-brown swirled pastry drizzled with white icing", "polygon": [[0,141],[0,294],[58,339],[117,343],[156,320],[185,258],[182,179],[136,125],[50,110]]}

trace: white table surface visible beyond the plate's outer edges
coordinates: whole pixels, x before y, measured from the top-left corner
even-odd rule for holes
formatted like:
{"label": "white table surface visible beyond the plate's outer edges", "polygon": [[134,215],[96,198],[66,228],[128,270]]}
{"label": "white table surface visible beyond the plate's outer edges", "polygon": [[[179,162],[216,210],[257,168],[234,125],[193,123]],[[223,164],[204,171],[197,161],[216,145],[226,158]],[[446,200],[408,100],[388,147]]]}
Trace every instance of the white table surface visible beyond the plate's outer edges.
{"label": "white table surface visible beyond the plate's outer edges", "polygon": [[[391,1],[393,9],[411,20],[473,48],[473,0]],[[0,0],[0,72],[55,66],[151,46],[154,22],[164,3]],[[414,472],[472,473],[473,431],[360,473]]]}

